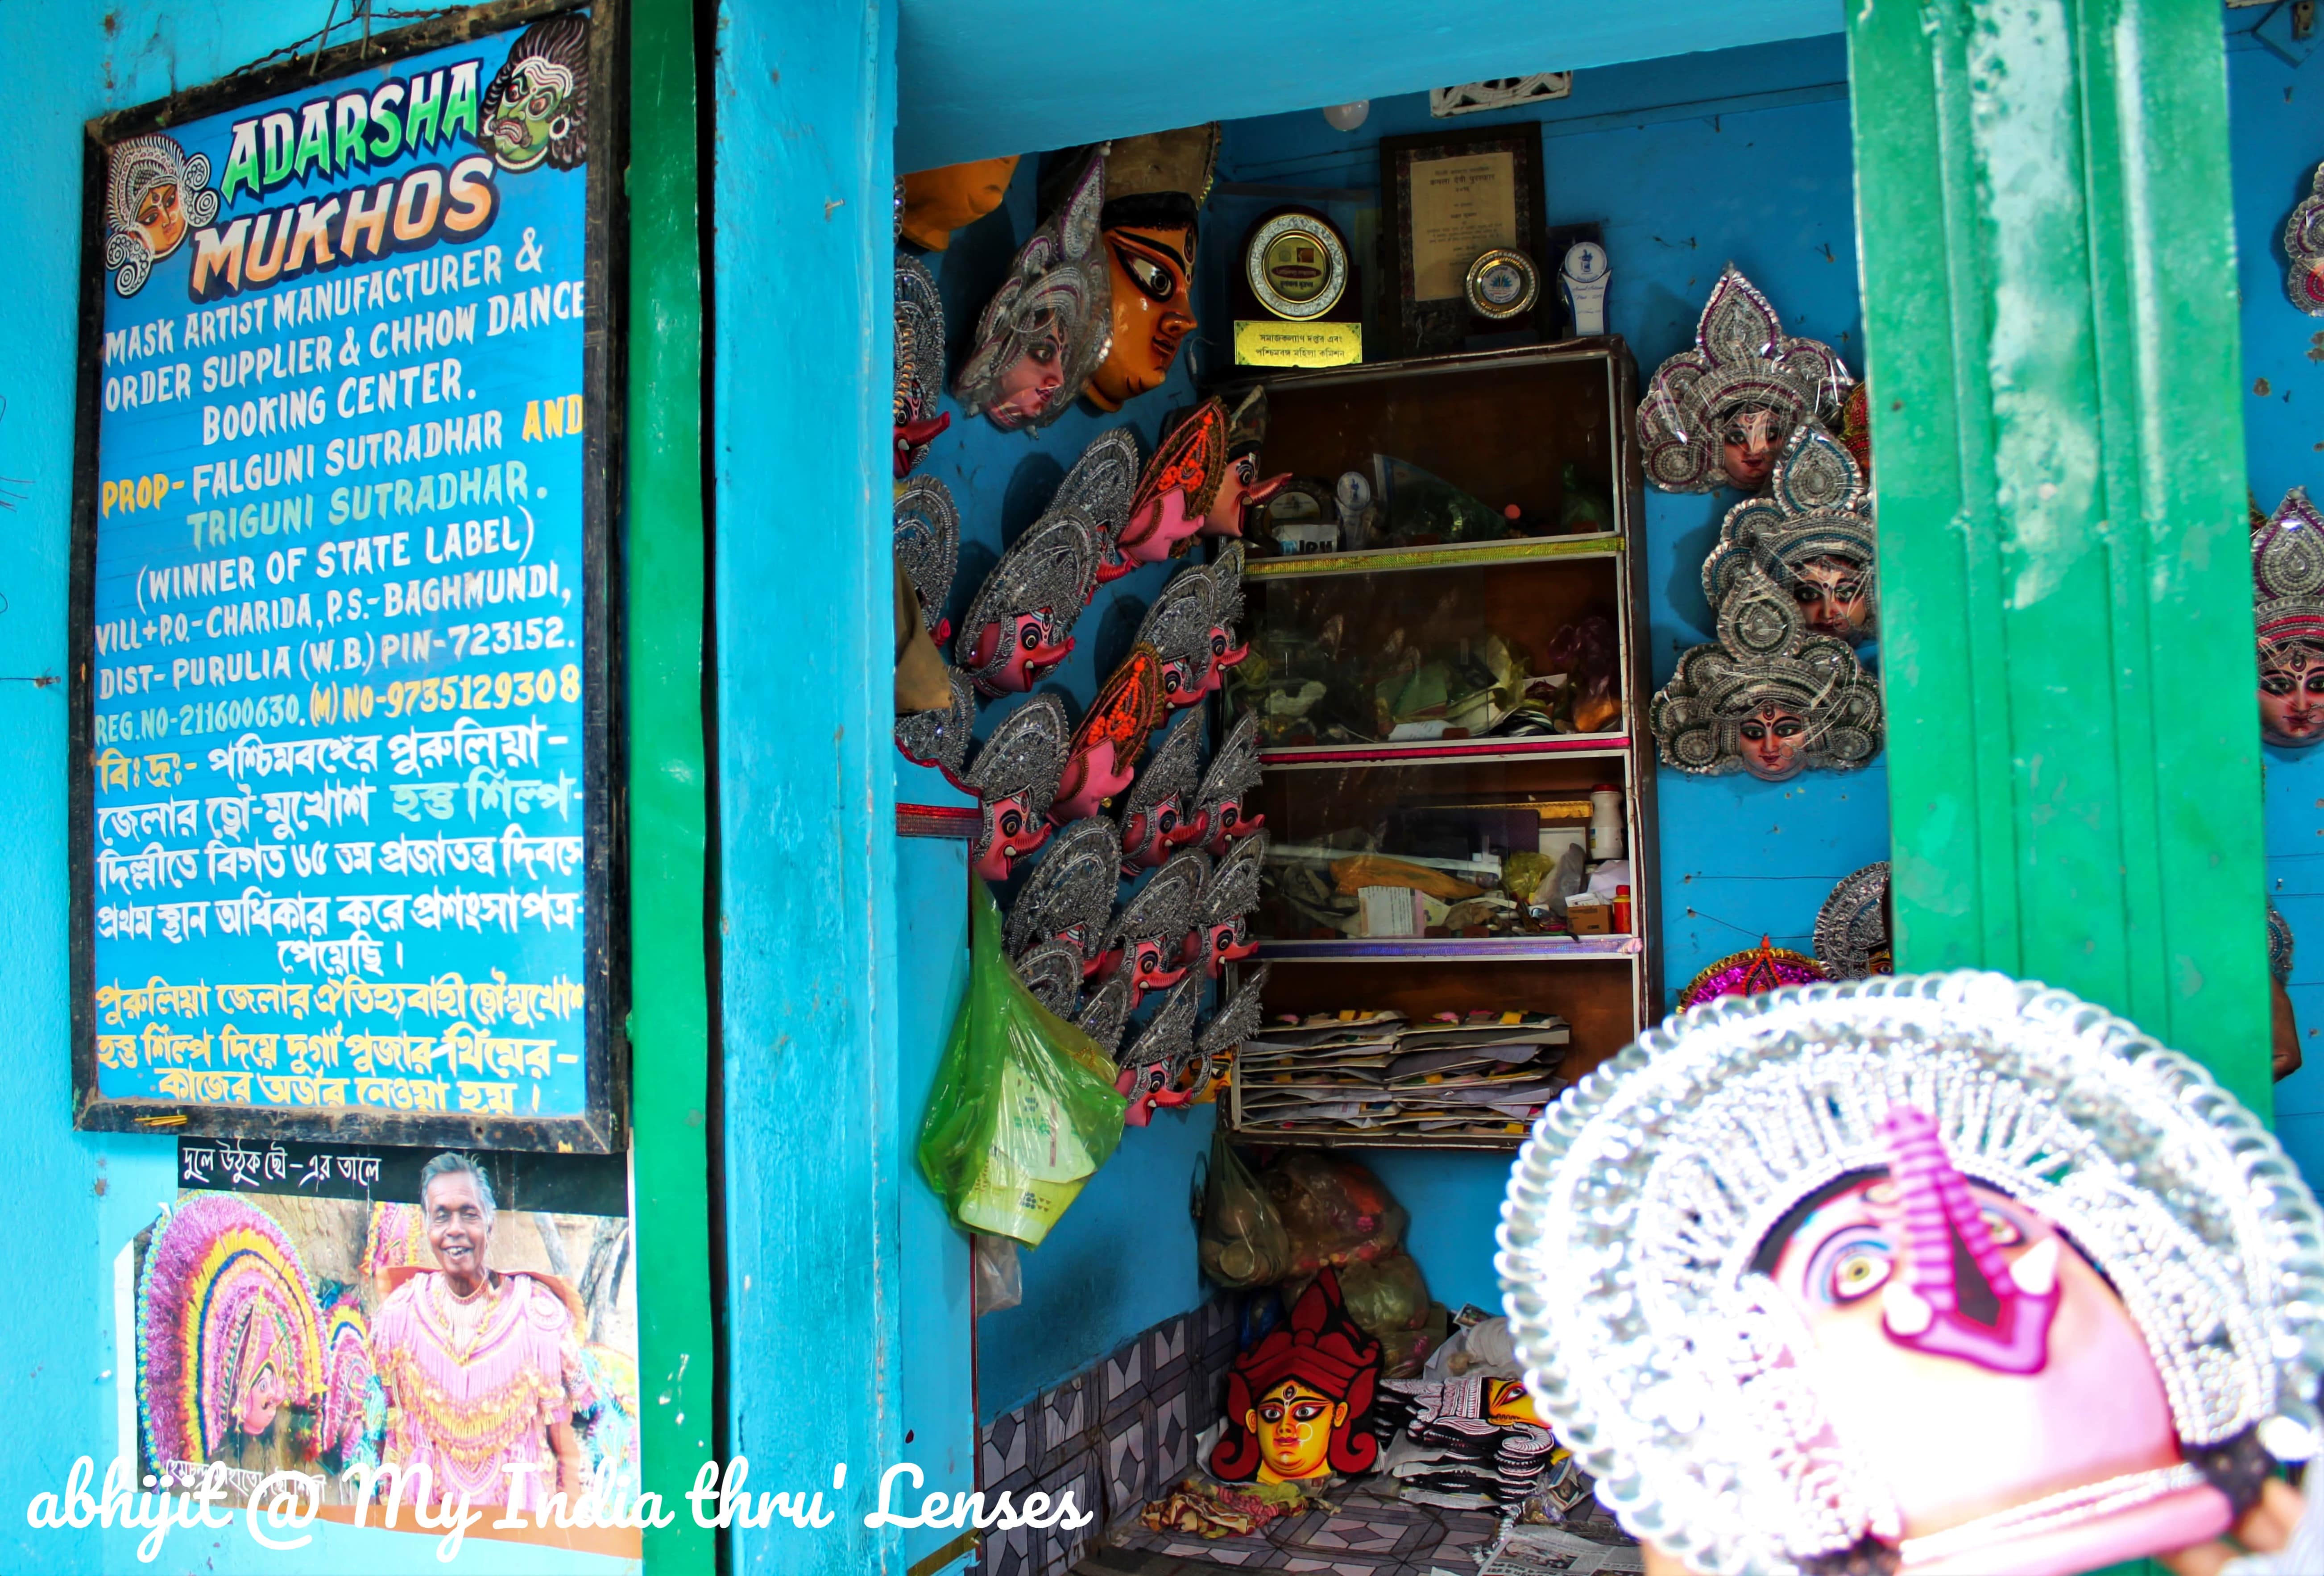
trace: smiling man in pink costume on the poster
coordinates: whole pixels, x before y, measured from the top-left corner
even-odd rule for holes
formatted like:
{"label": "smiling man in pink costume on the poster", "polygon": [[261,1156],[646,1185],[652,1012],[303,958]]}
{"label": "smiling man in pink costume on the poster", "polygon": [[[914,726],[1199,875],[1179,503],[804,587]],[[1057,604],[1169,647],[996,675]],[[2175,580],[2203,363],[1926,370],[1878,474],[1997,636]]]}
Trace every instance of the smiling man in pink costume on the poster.
{"label": "smiling man in pink costume on the poster", "polygon": [[437,1499],[530,1513],[551,1492],[579,1497],[574,1413],[595,1404],[579,1309],[548,1276],[486,1265],[493,1183],[467,1155],[428,1162],[421,1213],[437,1269],[388,1271],[397,1283],[372,1320],[383,1462],[428,1467]]}

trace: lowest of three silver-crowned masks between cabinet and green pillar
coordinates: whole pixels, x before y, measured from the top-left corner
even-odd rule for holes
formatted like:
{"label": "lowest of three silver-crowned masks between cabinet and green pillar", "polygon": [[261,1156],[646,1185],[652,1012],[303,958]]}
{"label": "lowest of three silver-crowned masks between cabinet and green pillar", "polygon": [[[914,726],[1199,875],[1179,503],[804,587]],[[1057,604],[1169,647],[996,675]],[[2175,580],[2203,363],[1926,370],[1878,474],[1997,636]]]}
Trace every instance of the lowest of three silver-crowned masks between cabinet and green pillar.
{"label": "lowest of three silver-crowned masks between cabinet and green pillar", "polygon": [[1717,642],[1678,658],[1648,707],[1662,760],[1715,776],[1780,783],[1806,769],[1852,772],[1880,753],[1880,686],[1855,649],[1808,635],[1799,604],[1745,563],[1720,602]]}

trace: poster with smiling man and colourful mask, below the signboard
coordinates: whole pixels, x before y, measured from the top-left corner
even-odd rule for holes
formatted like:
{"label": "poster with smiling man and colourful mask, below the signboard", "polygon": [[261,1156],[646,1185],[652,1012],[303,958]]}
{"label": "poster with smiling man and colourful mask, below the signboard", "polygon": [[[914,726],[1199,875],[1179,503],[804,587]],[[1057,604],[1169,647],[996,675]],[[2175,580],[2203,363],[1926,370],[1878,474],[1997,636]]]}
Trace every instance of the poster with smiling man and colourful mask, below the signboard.
{"label": "poster with smiling man and colourful mask, below the signboard", "polygon": [[349,1469],[388,1464],[407,1504],[488,1509],[469,1536],[639,1553],[634,1530],[490,1527],[493,1506],[532,1523],[553,1495],[637,1495],[621,1155],[181,1139],[177,1181],[130,1253],[139,1476],[191,1488],[218,1464],[232,1506],[321,1474],[323,1518],[353,1520]]}

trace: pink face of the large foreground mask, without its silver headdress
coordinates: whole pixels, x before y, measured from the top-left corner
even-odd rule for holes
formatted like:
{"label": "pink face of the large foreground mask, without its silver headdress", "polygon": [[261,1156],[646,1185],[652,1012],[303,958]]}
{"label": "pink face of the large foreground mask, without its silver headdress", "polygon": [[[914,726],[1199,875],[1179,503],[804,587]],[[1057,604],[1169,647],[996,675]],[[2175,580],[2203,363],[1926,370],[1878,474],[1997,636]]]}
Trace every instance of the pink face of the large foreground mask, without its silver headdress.
{"label": "pink face of the large foreground mask, without its silver headdress", "polygon": [[[1813,1337],[1836,1441],[1896,1506],[1901,1569],[2071,1576],[2217,1536],[2233,1511],[2185,1464],[2122,1297],[2038,1211],[1964,1179],[1927,1113],[1894,1106],[1882,1132],[1887,1174],[1845,1181],[1762,1262]],[[2124,1504],[2020,1527],[2096,1483]]]}

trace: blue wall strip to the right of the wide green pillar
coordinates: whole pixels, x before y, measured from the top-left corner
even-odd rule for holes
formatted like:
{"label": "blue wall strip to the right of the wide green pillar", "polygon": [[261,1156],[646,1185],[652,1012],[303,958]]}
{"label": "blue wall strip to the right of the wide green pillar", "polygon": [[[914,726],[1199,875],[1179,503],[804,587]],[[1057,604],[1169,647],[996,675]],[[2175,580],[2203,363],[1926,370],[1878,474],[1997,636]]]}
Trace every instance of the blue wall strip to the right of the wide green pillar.
{"label": "blue wall strip to the right of the wide green pillar", "polygon": [[[2247,14],[2231,12],[2231,26]],[[2243,442],[2252,490],[2324,497],[2324,318],[2284,300],[2284,219],[2324,158],[2324,60],[2289,65],[2247,33],[2229,35],[2226,93],[2236,158],[2236,267],[2243,286]],[[2240,700],[2238,700],[2240,704]],[[2324,751],[2261,746],[2268,895],[2298,937],[2291,1009],[2305,1067],[2275,1086],[2275,1130],[2308,1179],[2324,1181]]]}

